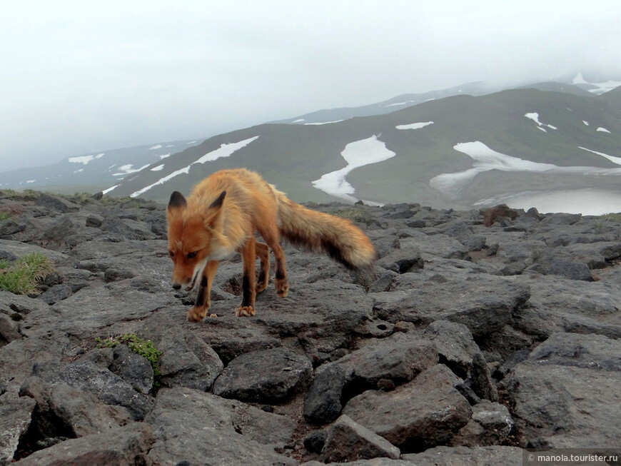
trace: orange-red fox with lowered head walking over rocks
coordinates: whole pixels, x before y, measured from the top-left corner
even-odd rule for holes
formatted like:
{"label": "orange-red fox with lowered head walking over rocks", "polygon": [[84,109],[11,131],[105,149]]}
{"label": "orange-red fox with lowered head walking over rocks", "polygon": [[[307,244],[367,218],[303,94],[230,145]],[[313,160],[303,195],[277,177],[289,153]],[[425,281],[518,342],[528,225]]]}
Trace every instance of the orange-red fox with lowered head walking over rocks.
{"label": "orange-red fox with lowered head walking over rocks", "polygon": [[[241,253],[243,264],[238,317],[255,314],[256,293],[268,284],[270,249],[276,263],[276,293],[285,298],[289,285],[279,236],[309,250],[322,250],[350,269],[366,268],[375,260],[370,240],[350,221],[294,203],[245,168],[213,173],[193,188],[187,200],[173,192],[167,217],[173,288],[189,291],[198,284],[196,303],[188,311],[191,322],[205,318],[218,260],[234,252]],[[267,244],[255,240],[255,231]],[[261,261],[258,280],[256,257]]]}

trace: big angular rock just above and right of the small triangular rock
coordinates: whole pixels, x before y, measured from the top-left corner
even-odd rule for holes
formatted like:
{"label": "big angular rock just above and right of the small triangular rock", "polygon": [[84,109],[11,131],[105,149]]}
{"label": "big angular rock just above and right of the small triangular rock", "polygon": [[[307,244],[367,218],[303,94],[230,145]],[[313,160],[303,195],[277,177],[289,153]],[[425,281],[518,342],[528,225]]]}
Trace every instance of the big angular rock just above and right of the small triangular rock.
{"label": "big angular rock just above and right of the small triangular rock", "polygon": [[445,365],[425,370],[392,392],[368,390],[345,405],[343,413],[381,435],[402,452],[448,442],[472,415],[455,390],[458,381]]}

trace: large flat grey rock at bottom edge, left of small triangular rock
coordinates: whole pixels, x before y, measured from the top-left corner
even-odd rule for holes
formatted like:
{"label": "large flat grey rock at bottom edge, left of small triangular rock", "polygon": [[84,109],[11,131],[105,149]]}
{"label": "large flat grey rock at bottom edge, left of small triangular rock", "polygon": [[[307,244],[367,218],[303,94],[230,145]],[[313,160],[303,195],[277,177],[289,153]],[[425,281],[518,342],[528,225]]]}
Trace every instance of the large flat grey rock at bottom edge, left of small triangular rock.
{"label": "large flat grey rock at bottom edge, left of small triangular rock", "polygon": [[274,451],[291,440],[296,422],[236,400],[189,388],[163,389],[146,422],[156,437],[148,464],[298,464]]}

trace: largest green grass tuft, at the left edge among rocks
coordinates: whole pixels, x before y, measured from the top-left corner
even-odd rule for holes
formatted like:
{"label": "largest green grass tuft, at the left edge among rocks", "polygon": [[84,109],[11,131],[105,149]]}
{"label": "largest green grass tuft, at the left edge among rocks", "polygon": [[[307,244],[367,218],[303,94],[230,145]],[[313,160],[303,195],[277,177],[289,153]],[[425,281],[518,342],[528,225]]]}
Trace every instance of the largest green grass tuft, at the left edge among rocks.
{"label": "largest green grass tuft, at the left edge among rocks", "polygon": [[9,263],[0,260],[0,288],[16,295],[36,293],[36,285],[54,270],[51,260],[41,253],[30,253]]}

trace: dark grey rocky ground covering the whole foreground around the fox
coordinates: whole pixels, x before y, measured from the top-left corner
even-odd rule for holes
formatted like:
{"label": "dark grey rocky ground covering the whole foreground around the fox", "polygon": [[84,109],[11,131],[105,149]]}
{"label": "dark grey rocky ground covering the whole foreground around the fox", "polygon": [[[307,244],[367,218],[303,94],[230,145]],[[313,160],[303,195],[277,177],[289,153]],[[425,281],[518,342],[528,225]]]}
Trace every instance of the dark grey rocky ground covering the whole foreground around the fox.
{"label": "dark grey rocky ground covering the whole foreground around the fox", "polygon": [[[621,221],[417,204],[356,219],[375,276],[287,247],[236,318],[171,289],[163,206],[0,196],[0,258],[39,251],[37,295],[0,292],[0,465],[522,465],[527,447],[619,447]],[[163,355],[158,372],[125,345]],[[378,458],[373,460],[373,458]]]}

